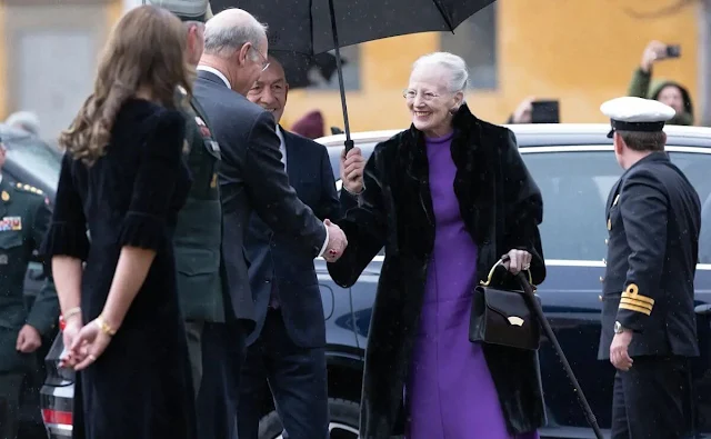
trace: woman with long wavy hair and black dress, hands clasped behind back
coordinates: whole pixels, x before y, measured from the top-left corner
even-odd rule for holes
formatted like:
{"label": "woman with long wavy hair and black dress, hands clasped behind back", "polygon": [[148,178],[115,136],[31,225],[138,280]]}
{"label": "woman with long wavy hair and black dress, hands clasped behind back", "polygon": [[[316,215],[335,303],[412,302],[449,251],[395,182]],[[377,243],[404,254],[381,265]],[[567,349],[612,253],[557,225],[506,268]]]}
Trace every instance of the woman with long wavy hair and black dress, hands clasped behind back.
{"label": "woman with long wavy hair and black dress, hands clasped behind back", "polygon": [[129,11],[60,137],[67,152],[42,252],[66,320],[60,367],[77,371],[74,439],[196,436],[171,243],[190,188],[174,100],[179,87],[191,90],[184,47],[169,11]]}

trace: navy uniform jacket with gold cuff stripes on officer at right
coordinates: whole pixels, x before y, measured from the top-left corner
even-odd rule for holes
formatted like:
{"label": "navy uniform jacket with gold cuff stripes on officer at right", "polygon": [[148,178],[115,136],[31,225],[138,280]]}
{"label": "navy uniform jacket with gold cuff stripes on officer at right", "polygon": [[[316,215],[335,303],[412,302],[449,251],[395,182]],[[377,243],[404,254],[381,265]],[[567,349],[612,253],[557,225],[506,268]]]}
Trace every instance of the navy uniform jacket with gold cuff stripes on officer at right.
{"label": "navy uniform jacket with gold cuff stripes on officer at right", "polygon": [[699,355],[693,280],[701,202],[665,152],[630,167],[607,204],[608,257],[599,359],[609,359],[614,322],[633,330],[629,355]]}

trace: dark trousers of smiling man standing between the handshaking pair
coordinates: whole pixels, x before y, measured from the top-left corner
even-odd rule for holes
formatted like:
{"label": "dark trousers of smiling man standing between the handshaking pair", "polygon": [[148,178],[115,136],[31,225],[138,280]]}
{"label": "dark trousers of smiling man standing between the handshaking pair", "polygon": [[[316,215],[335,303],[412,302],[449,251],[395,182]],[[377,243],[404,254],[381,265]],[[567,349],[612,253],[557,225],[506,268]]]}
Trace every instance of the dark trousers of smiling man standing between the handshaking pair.
{"label": "dark trousers of smiling man standing between the handshaking pair", "polygon": [[269,309],[260,337],[248,348],[241,382],[239,439],[258,439],[267,383],[284,438],[329,438],[326,350],[296,346],[278,309]]}

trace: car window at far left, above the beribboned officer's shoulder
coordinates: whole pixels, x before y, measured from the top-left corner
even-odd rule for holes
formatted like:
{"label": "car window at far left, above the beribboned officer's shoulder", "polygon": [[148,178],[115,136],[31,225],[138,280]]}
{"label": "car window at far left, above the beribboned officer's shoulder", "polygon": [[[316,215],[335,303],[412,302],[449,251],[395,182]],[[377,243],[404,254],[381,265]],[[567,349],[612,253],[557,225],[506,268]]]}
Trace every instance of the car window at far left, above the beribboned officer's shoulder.
{"label": "car window at far left, above the beribboned officer's shoulder", "polygon": [[48,188],[57,189],[61,170],[61,153],[34,137],[3,139],[8,159],[22,168]]}

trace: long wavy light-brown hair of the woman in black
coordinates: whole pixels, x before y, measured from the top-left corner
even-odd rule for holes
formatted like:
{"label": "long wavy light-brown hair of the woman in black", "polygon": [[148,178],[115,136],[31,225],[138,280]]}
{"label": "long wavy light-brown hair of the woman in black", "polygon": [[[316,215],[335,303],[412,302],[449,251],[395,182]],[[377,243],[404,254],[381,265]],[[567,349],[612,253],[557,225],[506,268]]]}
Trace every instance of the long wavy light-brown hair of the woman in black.
{"label": "long wavy light-brown hair of the woman in black", "polygon": [[127,12],[103,48],[93,92],[60,134],[60,147],[91,166],[103,156],[121,107],[139,90],[168,108],[176,107],[178,87],[191,94],[194,69],[186,44],[182,22],[168,10],[141,6]]}

